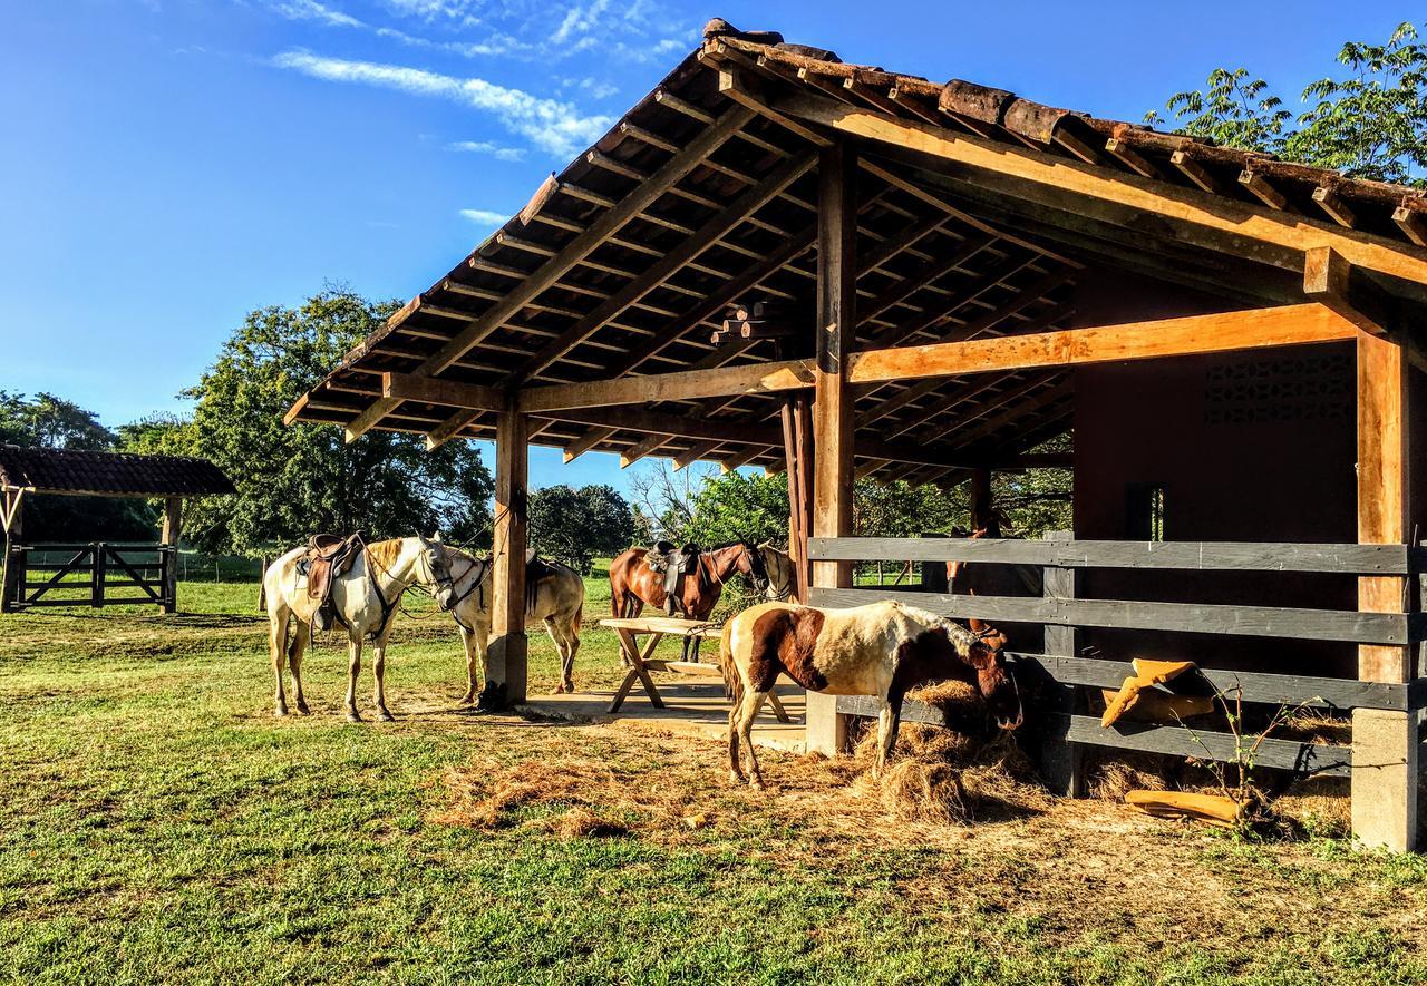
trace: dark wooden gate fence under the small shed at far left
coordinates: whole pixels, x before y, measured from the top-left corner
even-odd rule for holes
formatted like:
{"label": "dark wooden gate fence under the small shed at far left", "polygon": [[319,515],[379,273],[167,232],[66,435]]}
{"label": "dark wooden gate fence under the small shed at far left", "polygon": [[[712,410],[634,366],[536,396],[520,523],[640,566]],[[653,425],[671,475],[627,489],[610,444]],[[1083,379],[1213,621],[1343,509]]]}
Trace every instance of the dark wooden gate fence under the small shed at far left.
{"label": "dark wooden gate fence under the small shed at far left", "polygon": [[144,604],[173,612],[176,564],[177,549],[166,544],[11,545],[4,609]]}

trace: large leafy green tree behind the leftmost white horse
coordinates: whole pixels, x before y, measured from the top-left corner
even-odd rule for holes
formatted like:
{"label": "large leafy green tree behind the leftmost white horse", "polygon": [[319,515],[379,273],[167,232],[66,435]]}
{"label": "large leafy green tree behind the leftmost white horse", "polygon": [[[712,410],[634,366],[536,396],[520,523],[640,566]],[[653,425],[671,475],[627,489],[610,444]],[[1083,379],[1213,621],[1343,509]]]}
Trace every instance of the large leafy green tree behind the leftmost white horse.
{"label": "large leafy green tree behind the leftmost white horse", "polygon": [[330,425],[283,424],[293,401],[395,307],[328,287],[298,308],[258,308],[186,392],[197,402],[191,425],[140,428],[144,441],[191,441],[238,488],[195,507],[186,524],[195,544],[255,555],[314,531],[384,538],[440,529],[455,541],[488,532],[494,484],[468,442],[427,452],[411,435],[374,431],[347,444]]}

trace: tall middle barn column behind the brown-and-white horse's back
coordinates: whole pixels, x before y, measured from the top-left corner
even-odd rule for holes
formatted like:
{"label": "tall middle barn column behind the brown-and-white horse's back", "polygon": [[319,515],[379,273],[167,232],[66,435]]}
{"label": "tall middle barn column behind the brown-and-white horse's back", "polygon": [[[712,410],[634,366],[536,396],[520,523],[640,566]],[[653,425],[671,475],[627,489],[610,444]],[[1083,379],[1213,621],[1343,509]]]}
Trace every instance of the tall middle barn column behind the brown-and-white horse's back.
{"label": "tall middle barn column behind the brown-and-white horse's back", "polygon": [[[856,154],[845,141],[822,151],[818,161],[818,345],[812,408],[813,457],[812,534],[852,534],[852,410],[846,357],[855,348],[856,317]],[[816,562],[813,584],[852,585],[850,562]],[[832,695],[808,693],[808,751],[843,752],[846,716]]]}

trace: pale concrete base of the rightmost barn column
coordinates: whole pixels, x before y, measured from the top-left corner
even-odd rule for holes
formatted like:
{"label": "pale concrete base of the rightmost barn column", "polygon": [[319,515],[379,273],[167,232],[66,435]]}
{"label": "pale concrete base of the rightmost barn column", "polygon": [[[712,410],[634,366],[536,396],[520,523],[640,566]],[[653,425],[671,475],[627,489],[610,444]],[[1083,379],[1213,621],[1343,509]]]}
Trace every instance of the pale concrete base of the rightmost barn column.
{"label": "pale concrete base of the rightmost barn column", "polygon": [[1370,848],[1417,848],[1417,722],[1410,712],[1353,711],[1353,835]]}

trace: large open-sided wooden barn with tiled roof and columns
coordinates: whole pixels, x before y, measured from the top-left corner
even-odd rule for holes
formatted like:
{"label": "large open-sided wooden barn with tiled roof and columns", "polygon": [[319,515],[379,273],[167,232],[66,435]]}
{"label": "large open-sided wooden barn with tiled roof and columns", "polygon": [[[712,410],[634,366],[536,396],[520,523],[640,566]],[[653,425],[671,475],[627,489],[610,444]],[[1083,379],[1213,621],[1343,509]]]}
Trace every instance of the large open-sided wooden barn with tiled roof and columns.
{"label": "large open-sided wooden barn with tiled roof and columns", "polygon": [[[495,439],[492,678],[514,699],[529,444],[762,465],[788,472],[813,602],[885,596],[850,588],[862,559],[1043,569],[1039,598],[909,598],[1045,626],[1017,664],[1052,683],[1066,791],[1085,743],[1203,752],[1083,708],[1133,656],[1189,656],[1247,702],[1351,711],[1351,746],[1261,762],[1350,776],[1357,835],[1401,849],[1427,703],[1424,303],[1418,191],[716,20],[290,420]],[[1073,454],[1037,451],[1067,431]],[[1073,532],[849,537],[855,477],[985,489],[1037,465],[1073,465]],[[838,751],[859,703],[808,701],[809,746]]]}

